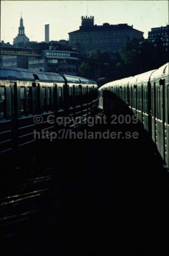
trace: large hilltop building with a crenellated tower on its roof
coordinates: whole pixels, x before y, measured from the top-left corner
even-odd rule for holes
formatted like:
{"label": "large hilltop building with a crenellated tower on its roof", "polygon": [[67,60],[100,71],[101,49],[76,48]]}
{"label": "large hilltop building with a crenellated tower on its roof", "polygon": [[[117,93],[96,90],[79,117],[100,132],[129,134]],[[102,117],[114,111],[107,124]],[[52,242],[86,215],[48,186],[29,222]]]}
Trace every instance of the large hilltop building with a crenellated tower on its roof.
{"label": "large hilltop building with a crenellated tower on its roof", "polygon": [[143,32],[125,24],[102,26],[94,25],[94,17],[83,17],[82,26],[69,33],[69,43],[82,54],[100,49],[101,52],[119,53],[119,48],[126,41],[143,39]]}

